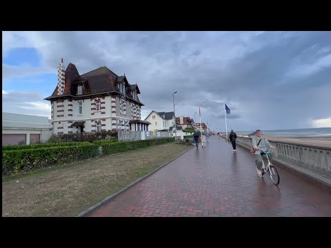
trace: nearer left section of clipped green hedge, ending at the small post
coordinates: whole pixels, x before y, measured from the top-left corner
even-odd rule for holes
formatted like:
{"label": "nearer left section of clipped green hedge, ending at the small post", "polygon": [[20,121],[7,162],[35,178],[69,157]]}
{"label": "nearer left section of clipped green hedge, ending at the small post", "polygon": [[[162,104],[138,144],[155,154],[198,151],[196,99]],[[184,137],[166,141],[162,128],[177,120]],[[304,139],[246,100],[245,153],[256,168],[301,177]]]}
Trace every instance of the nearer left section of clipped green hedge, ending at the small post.
{"label": "nearer left section of clipped green hedge, ending at the small post", "polygon": [[2,151],[2,173],[28,172],[32,169],[92,158],[98,154],[99,145],[92,144]]}

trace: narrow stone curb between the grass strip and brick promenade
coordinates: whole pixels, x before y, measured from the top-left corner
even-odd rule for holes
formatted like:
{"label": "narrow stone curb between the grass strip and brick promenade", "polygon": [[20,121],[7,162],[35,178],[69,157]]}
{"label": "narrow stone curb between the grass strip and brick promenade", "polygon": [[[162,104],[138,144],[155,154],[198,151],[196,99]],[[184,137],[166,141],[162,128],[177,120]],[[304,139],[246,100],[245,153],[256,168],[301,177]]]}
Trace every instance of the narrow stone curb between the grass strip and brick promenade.
{"label": "narrow stone curb between the grass strip and brick promenade", "polygon": [[112,198],[118,196],[119,194],[121,194],[122,192],[125,192],[127,189],[129,189],[130,187],[136,185],[137,183],[141,182],[142,180],[144,180],[145,178],[147,178],[148,176],[151,176],[152,174],[154,174],[154,172],[157,172],[159,169],[161,169],[162,167],[164,167],[165,165],[168,165],[168,163],[174,161],[175,159],[179,158],[179,156],[185,154],[186,152],[190,151],[192,148],[194,148],[194,146],[192,146],[190,149],[188,149],[187,151],[179,154],[178,156],[172,158],[170,161],[166,162],[165,164],[161,165],[160,167],[157,167],[157,169],[154,169],[154,171],[146,174],[145,176],[143,176],[142,178],[139,178],[137,180],[135,180],[133,183],[130,183],[130,185],[123,187],[123,189],[119,190],[118,192],[116,192],[115,194],[112,194],[111,196],[108,196],[106,199],[101,200],[101,202],[97,203],[96,205],[82,211],[80,214],[78,214],[76,217],[86,217],[88,214],[90,214],[92,211],[94,211],[95,209],[97,209],[98,207],[101,207],[101,205],[107,203],[108,201],[112,200]]}

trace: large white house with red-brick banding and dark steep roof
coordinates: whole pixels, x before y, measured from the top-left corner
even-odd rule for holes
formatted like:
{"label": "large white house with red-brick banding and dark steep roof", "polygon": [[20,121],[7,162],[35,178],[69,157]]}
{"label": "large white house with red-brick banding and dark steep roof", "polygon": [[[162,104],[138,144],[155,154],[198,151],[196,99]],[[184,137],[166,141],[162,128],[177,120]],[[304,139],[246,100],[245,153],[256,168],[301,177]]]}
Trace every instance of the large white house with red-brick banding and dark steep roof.
{"label": "large white house with red-brick banding and dark steep roof", "polygon": [[46,98],[51,102],[54,134],[126,131],[132,126],[130,121],[139,124],[140,90],[125,75],[117,76],[106,67],[79,75],[72,63],[64,74],[63,68],[61,61],[57,87]]}

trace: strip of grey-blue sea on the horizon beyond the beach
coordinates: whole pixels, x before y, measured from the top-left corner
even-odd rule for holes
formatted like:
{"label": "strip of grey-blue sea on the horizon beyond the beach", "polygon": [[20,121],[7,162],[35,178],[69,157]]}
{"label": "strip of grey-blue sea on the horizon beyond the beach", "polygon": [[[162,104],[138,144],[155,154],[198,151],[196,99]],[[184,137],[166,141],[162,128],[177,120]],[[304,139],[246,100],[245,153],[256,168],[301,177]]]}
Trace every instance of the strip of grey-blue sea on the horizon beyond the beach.
{"label": "strip of grey-blue sea on the horizon beyond the beach", "polygon": [[[254,131],[243,132],[251,134]],[[331,138],[331,127],[303,128],[295,130],[261,130],[262,134],[278,138]]]}

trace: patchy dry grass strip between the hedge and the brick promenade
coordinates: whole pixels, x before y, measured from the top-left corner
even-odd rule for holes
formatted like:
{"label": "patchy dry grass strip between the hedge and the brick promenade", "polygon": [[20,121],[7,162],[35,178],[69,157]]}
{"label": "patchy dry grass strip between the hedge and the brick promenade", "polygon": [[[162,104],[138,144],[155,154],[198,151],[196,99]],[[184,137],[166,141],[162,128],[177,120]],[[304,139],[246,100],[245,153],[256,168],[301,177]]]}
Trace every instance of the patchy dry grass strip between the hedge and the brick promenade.
{"label": "patchy dry grass strip between the hedge and the brick promenade", "polygon": [[166,143],[5,176],[2,216],[77,216],[191,148]]}

